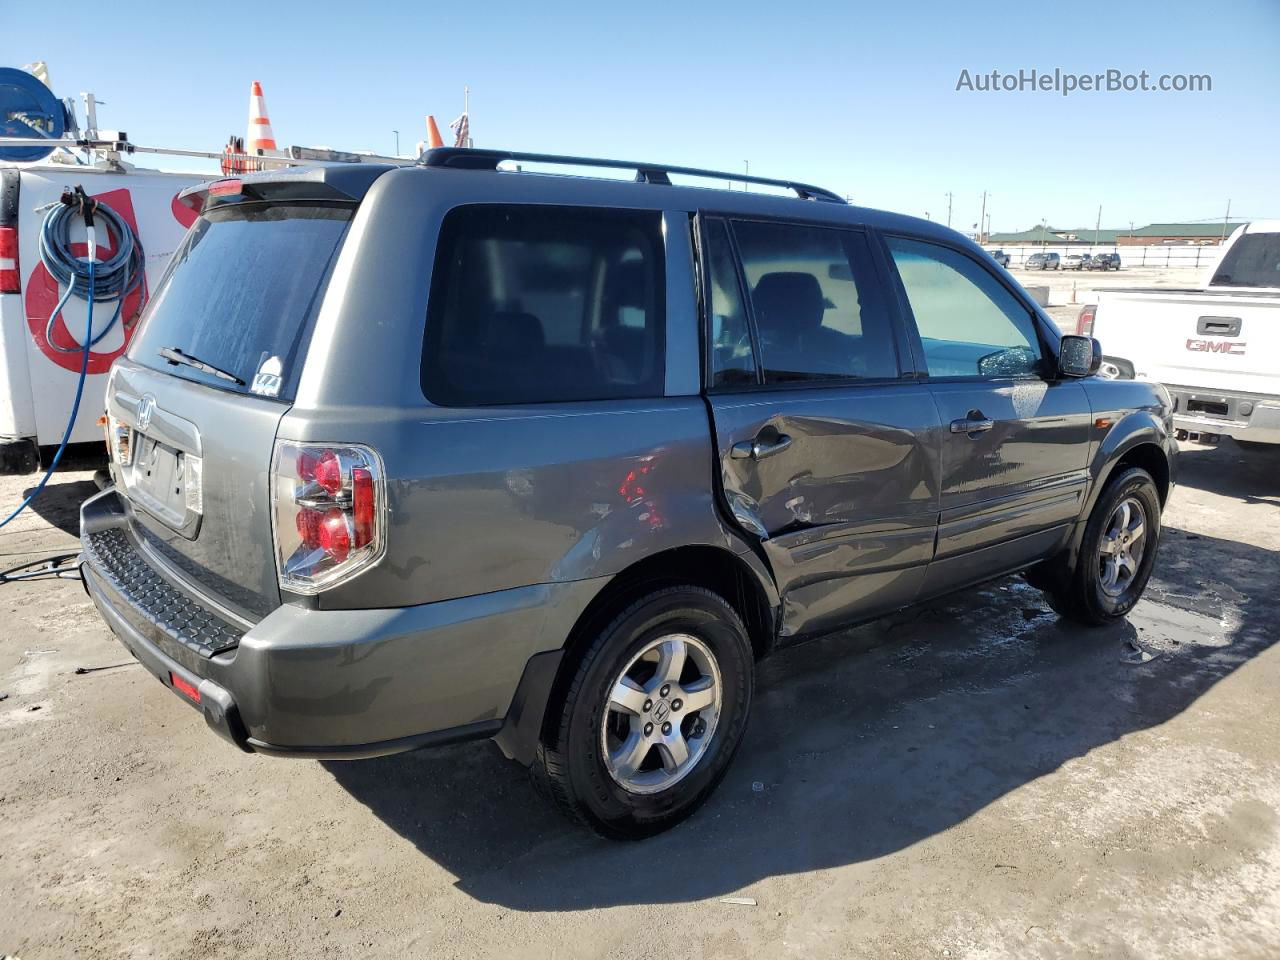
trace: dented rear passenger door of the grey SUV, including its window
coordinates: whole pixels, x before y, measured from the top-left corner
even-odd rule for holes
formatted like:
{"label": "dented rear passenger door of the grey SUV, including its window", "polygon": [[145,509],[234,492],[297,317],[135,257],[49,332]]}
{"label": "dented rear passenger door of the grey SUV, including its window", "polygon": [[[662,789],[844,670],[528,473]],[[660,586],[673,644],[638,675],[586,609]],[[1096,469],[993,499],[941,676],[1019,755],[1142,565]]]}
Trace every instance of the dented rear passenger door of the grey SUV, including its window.
{"label": "dented rear passenger door of the grey SUV, including its window", "polygon": [[864,238],[790,227],[701,223],[722,495],[773,567],[783,635],[916,596],[940,477],[937,407],[902,376]]}

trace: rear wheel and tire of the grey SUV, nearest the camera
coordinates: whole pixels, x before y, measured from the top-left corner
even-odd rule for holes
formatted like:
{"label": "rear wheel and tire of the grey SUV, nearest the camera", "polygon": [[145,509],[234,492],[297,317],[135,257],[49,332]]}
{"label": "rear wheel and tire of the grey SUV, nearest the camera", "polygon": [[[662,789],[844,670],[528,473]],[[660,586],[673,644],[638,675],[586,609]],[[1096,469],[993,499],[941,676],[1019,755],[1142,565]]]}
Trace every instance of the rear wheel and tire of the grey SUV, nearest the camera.
{"label": "rear wheel and tire of the grey SUV, nearest the camera", "polygon": [[652,593],[581,653],[544,730],[535,780],[572,819],[613,840],[696,810],[746,730],[754,655],[737,612],[695,586]]}

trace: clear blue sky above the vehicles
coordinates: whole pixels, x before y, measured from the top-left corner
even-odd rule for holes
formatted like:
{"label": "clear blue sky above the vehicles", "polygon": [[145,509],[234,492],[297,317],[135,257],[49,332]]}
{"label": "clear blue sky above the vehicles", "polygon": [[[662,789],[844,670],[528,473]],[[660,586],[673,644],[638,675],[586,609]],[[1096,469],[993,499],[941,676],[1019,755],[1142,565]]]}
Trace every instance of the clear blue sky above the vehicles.
{"label": "clear blue sky above the vehicles", "polygon": [[[477,146],[790,177],[992,227],[1280,216],[1280,0],[79,3],[3,0],[134,142],[220,150],[265,88],[276,141],[392,152],[471,86]],[[113,61],[113,56],[115,58]],[[1207,73],[1212,92],[957,92],[961,69]]]}

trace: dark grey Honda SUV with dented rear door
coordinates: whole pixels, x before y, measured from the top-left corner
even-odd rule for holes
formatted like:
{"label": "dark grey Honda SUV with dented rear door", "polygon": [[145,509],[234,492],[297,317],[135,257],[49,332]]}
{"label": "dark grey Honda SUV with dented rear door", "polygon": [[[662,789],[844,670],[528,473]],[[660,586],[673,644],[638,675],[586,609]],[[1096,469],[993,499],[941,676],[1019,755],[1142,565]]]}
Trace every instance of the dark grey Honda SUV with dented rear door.
{"label": "dark grey Honda SUV with dented rear door", "polygon": [[1133,608],[1158,387],[959,233],[671,173],[742,179],[440,148],[204,188],[81,513],[120,641],[243,750],[493,737],[635,837],[707,799],[783,644],[1019,570]]}

